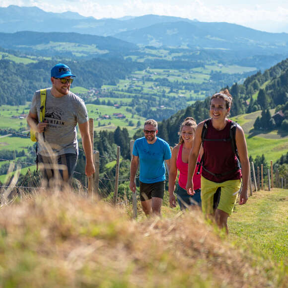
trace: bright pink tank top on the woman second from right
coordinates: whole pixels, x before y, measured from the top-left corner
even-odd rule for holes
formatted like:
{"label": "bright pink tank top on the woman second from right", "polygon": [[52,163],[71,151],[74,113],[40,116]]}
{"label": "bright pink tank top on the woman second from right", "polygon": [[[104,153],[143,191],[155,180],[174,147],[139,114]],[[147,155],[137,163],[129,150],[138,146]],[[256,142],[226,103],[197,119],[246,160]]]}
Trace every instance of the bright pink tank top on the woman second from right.
{"label": "bright pink tank top on the woman second from right", "polygon": [[[176,167],[180,171],[179,174],[179,180],[178,184],[181,188],[185,189],[186,184],[187,184],[187,177],[188,177],[188,163],[184,163],[182,161],[182,149],[183,149],[183,144],[181,144],[176,160]],[[198,162],[200,162],[200,156],[198,155]],[[196,165],[195,172],[193,175],[193,188],[194,190],[200,189],[201,188],[201,173],[202,173],[202,167],[200,169],[200,174],[197,175],[198,171],[198,165]]]}

